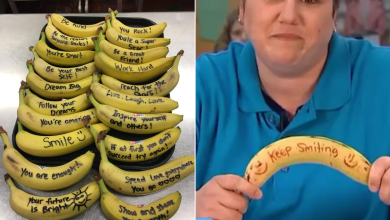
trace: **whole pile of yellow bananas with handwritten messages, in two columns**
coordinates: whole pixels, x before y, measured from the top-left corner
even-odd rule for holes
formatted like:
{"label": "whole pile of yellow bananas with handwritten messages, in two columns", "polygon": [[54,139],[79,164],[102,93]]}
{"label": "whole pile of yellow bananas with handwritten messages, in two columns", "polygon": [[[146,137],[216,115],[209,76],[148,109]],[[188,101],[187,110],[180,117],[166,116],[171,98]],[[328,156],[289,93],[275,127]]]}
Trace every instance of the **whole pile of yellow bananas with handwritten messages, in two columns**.
{"label": "whole pile of yellow bananas with handwritten messages, in two columns", "polygon": [[[110,160],[140,162],[153,159],[175,145],[183,116],[171,113],[178,103],[166,98],[179,81],[183,51],[166,57],[170,39],[159,37],[167,24],[132,28],[109,9],[105,21],[84,25],[65,17],[46,15],[41,39],[29,49],[26,82],[21,82],[17,110],[16,144],[25,153],[55,157],[96,145],[101,154],[95,181],[58,197],[40,197],[17,188],[13,181],[36,190],[69,187],[91,170],[95,154],[88,151],[57,167],[28,161],[10,143],[4,143],[4,178],[10,205],[28,219],[68,219],[80,215],[100,198],[110,219],[169,219],[179,209],[181,194],[174,192],[146,206],[121,201],[108,191],[146,195],[172,186],[194,172],[194,156],[183,156],[160,167],[134,172]],[[46,39],[57,49],[46,44]],[[157,80],[155,80],[158,78]],[[155,81],[153,81],[155,80]],[[28,128],[32,132],[28,132]],[[152,134],[141,141],[110,136],[110,131]]]}

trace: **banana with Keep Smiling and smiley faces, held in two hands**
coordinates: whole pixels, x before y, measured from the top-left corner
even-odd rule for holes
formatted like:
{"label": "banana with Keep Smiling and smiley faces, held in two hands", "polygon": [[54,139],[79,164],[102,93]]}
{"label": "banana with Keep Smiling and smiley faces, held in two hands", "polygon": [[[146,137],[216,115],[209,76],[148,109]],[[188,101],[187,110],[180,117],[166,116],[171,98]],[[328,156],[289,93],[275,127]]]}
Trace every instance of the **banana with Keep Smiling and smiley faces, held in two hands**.
{"label": "banana with Keep Smiling and smiley faces, held in two hands", "polygon": [[319,136],[295,136],[278,140],[260,150],[249,162],[245,178],[257,186],[282,167],[318,163],[367,185],[370,162],[355,149]]}

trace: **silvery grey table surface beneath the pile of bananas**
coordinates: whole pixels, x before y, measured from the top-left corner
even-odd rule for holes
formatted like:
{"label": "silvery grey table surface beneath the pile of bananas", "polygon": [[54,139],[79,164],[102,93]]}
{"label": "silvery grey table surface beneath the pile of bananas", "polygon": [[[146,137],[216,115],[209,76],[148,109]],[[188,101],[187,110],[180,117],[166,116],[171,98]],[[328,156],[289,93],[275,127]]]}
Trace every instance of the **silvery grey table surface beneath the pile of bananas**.
{"label": "silvery grey table surface beneath the pile of bananas", "polygon": [[[100,16],[107,13],[90,14],[63,14],[64,16]],[[173,113],[183,114],[184,120],[179,124],[182,134],[176,144],[175,152],[172,158],[176,159],[184,155],[194,155],[194,134],[195,134],[195,20],[194,12],[161,12],[161,13],[119,13],[118,17],[144,17],[155,21],[156,23],[167,22],[168,26],[164,32],[166,38],[171,38],[169,54],[174,56],[181,49],[184,50],[184,56],[180,60],[179,71],[180,81],[177,87],[171,92],[171,98],[179,102],[179,108]],[[20,82],[26,80],[28,73],[26,61],[33,58],[32,52],[28,50],[29,46],[35,46],[38,41],[40,31],[46,24],[44,14],[18,14],[18,15],[0,15],[0,126],[12,136],[13,127],[16,121],[16,111],[18,108],[18,91]],[[0,151],[3,149],[3,143],[0,139]],[[1,161],[1,157],[0,157]],[[90,173],[77,184],[56,192],[42,192],[30,189],[21,184],[15,183],[17,187],[27,193],[39,196],[59,196],[78,190],[93,180]],[[6,173],[0,165],[0,220],[20,220],[24,219],[17,215],[9,205],[10,190],[3,180]],[[116,193],[110,190],[123,201],[136,205],[148,204],[158,200],[170,193],[178,190],[183,198],[181,206],[172,220],[190,220],[195,217],[195,178],[191,174],[182,181],[176,183],[160,192],[154,194],[131,197]],[[100,202],[95,203],[85,213],[75,219],[108,219],[100,206]]]}

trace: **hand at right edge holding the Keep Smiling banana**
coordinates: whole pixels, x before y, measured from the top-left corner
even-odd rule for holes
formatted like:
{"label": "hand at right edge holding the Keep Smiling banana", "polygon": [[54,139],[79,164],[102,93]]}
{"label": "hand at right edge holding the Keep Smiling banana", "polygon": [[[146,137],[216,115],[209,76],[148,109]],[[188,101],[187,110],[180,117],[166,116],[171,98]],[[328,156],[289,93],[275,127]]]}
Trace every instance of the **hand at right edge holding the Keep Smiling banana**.
{"label": "hand at right edge holding the Keep Smiling banana", "polygon": [[378,158],[371,166],[368,187],[371,192],[379,191],[379,198],[390,204],[390,157]]}

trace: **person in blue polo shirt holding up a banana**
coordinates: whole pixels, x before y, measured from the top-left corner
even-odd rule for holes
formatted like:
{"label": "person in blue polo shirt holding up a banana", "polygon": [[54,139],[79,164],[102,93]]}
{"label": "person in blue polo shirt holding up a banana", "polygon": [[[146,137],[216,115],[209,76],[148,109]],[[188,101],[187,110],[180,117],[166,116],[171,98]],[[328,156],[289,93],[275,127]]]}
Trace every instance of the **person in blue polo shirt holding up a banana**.
{"label": "person in blue polo shirt holding up a banana", "polygon": [[[387,220],[390,49],[334,31],[337,0],[242,0],[248,36],[197,60],[196,215],[217,220]],[[325,136],[371,163],[368,185],[324,165],[244,178],[264,146]],[[249,199],[248,199],[249,198]]]}

